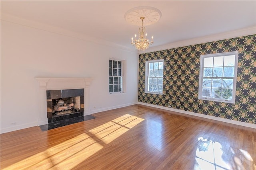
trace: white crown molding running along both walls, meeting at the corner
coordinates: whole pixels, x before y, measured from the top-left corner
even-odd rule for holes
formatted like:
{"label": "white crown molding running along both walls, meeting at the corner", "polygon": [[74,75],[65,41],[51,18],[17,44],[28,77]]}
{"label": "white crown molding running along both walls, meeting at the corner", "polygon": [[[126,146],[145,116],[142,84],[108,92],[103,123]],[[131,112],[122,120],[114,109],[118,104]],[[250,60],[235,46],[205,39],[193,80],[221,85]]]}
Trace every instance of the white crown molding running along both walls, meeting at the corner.
{"label": "white crown molding running along both walls, meeting at the corner", "polygon": [[114,48],[117,48],[117,49],[122,49],[124,51],[129,51],[129,52],[137,53],[137,54],[150,53],[150,52],[154,52],[154,51],[161,51],[161,50],[172,49],[172,48],[177,48],[177,47],[184,47],[184,46],[188,46],[188,45],[195,45],[195,44],[207,43],[207,42],[211,42],[211,41],[218,41],[218,40],[222,40],[222,39],[229,39],[229,38],[235,38],[235,37],[241,37],[241,36],[256,34],[256,26],[252,26],[252,27],[247,27],[247,28],[243,28],[243,29],[236,29],[236,30],[233,30],[233,31],[227,31],[227,32],[223,32],[223,33],[207,35],[207,36],[204,36],[204,37],[198,37],[198,38],[194,38],[194,39],[186,39],[186,40],[177,41],[177,42],[174,42],[174,43],[169,43],[169,44],[166,44],[166,45],[159,45],[159,46],[155,46],[155,47],[150,47],[150,48],[146,49],[145,51],[137,51],[135,48],[132,48],[132,47],[122,46],[122,45],[112,43],[112,42],[109,42],[109,41],[105,41],[105,40],[102,40],[102,39],[96,39],[96,38],[91,37],[89,35],[84,35],[84,34],[76,33],[74,31],[70,31],[70,30],[67,30],[67,29],[62,29],[60,27],[54,27],[54,26],[51,26],[51,25],[46,25],[46,24],[42,24],[42,23],[39,23],[39,22],[18,18],[18,17],[15,17],[15,16],[11,16],[9,14],[1,13],[1,21],[16,23],[18,25],[32,27],[32,28],[35,28],[35,29],[40,29],[40,30],[43,30],[43,31],[56,33],[56,34],[59,34],[59,35],[73,37],[73,38],[76,38],[76,39],[81,39],[81,40],[88,41],[88,42],[91,42],[91,43],[96,43],[96,44],[99,44],[99,45],[114,47]]}

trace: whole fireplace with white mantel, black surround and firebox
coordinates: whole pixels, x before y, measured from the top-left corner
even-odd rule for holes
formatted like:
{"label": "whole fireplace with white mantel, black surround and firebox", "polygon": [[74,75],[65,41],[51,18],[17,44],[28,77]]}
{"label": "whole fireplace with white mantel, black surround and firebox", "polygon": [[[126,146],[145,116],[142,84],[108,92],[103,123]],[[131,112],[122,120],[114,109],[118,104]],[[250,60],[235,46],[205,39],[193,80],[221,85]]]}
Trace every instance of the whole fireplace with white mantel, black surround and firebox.
{"label": "whole fireplace with white mantel, black surround and firebox", "polygon": [[36,77],[36,80],[38,81],[38,125],[90,115],[92,78]]}

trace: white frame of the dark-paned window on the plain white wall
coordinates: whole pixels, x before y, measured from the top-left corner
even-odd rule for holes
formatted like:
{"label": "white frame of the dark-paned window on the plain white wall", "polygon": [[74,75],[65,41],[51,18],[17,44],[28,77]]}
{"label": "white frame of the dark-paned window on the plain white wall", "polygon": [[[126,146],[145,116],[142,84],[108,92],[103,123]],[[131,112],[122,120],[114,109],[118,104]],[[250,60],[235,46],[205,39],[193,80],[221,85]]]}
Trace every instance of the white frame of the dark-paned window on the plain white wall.
{"label": "white frame of the dark-paned window on the plain white wall", "polygon": [[[125,93],[126,92],[126,60],[113,59],[113,58],[109,58],[108,61],[109,60],[120,61],[121,62],[121,76],[120,77],[122,77],[122,89],[121,89],[120,92],[109,92],[109,88],[108,88],[108,94],[122,94],[122,93]],[[108,68],[110,68],[110,67],[108,66]],[[113,70],[112,70],[112,72],[113,72]],[[109,77],[110,77],[110,75],[109,75],[109,71],[108,71],[108,78]],[[112,77],[114,77],[114,76],[112,76]],[[117,76],[117,77],[119,77],[119,76]],[[108,86],[109,85],[110,84],[108,82]],[[114,79],[113,79],[113,85],[114,85]]]}

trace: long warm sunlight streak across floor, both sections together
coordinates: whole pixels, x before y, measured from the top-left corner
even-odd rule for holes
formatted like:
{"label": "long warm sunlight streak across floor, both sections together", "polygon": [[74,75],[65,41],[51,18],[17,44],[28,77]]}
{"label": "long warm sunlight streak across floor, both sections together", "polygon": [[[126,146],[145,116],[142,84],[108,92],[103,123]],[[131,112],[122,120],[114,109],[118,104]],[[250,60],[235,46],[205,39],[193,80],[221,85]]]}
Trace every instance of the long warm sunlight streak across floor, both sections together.
{"label": "long warm sunlight streak across floor, both sections together", "polygon": [[143,120],[133,115],[123,115],[91,129],[89,133],[83,133],[63,141],[43,152],[16,162],[5,169],[47,170],[63,169],[63,167],[66,167],[65,169],[75,168],[78,164],[101,150],[104,145],[114,141],[117,137],[138,125]]}

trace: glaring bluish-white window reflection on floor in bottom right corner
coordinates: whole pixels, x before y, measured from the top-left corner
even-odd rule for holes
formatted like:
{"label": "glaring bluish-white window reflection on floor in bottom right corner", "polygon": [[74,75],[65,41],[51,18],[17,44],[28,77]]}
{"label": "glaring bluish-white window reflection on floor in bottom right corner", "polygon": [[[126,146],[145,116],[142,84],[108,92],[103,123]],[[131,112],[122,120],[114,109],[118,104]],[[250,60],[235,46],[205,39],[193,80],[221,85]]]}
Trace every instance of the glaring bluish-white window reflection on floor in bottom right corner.
{"label": "glaring bluish-white window reflection on floor in bottom right corner", "polygon": [[[228,144],[220,144],[217,141],[199,137],[194,170],[256,169],[252,156],[246,150],[240,149],[237,152],[234,152],[232,147],[225,145]],[[233,157],[233,159],[228,159],[230,157]]]}

